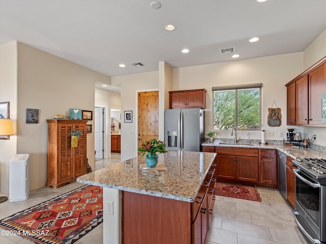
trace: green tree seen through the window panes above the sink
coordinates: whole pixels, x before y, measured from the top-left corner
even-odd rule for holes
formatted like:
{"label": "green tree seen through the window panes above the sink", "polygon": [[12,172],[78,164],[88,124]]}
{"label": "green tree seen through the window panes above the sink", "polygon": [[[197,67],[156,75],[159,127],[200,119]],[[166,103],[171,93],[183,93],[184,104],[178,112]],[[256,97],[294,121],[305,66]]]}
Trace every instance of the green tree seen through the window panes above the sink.
{"label": "green tree seen through the window panes above the sink", "polygon": [[213,130],[260,130],[260,88],[214,90]]}

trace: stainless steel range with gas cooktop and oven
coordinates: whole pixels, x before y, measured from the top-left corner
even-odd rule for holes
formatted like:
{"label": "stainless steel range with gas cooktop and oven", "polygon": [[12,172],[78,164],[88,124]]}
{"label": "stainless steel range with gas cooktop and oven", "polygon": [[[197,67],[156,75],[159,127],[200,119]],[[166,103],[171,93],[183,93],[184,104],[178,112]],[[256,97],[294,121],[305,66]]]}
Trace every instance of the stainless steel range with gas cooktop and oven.
{"label": "stainless steel range with gas cooktop and oven", "polygon": [[292,160],[295,174],[295,222],[312,243],[326,243],[326,159]]}

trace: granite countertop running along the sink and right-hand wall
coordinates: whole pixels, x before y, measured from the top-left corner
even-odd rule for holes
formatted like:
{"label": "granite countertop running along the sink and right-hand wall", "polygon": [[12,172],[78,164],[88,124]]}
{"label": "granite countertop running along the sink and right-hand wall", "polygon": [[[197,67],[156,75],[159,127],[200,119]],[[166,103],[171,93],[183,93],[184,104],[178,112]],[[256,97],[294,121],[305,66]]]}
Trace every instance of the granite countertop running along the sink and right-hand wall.
{"label": "granite countertop running along the sink and right-hand wall", "polygon": [[242,147],[242,148],[262,148],[262,149],[277,149],[280,152],[285,153],[287,156],[291,158],[326,158],[326,153],[310,149],[310,148],[293,148],[291,146],[279,145],[279,144],[250,144],[246,145],[246,143],[238,143],[238,144],[219,144],[216,142],[213,143],[202,143],[202,146],[213,146],[213,147]]}

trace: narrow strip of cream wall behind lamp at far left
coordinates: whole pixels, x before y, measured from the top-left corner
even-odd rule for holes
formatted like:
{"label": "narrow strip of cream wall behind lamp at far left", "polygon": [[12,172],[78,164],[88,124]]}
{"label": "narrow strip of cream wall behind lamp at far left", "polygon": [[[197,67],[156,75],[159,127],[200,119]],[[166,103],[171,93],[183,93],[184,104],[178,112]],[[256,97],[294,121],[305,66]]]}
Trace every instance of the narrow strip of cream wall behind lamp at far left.
{"label": "narrow strip of cream wall behind lamp at far left", "polygon": [[[0,45],[0,102],[9,102],[14,133],[17,122],[17,42]],[[17,135],[0,140],[0,192],[9,193],[9,161],[17,154]]]}

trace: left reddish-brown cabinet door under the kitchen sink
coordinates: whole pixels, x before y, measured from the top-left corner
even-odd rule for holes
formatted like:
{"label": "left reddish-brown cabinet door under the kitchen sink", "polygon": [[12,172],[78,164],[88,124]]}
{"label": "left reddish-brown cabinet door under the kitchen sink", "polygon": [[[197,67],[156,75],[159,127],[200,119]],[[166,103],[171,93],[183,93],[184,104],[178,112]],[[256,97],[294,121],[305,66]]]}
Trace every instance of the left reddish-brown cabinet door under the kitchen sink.
{"label": "left reddish-brown cabinet door under the kitchen sink", "polygon": [[236,157],[231,155],[217,155],[216,169],[219,179],[235,180],[236,178]]}

